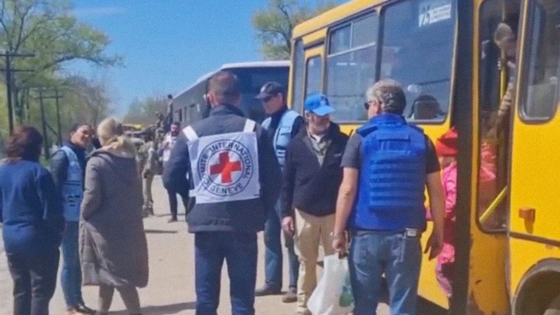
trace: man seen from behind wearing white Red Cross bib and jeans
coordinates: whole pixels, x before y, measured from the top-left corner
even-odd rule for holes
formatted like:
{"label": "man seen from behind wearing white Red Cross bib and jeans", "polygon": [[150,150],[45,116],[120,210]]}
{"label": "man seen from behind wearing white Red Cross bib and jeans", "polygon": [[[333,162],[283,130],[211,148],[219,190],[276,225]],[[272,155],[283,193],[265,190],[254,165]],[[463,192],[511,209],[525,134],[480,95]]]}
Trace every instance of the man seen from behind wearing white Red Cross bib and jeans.
{"label": "man seen from behind wearing white Red Cross bib and jeans", "polygon": [[218,72],[208,90],[210,115],[179,134],[164,183],[189,186],[195,199],[187,222],[195,234],[196,313],[216,315],[225,259],[232,314],[253,315],[256,233],[278,200],[281,172],[267,133],[239,108],[237,78]]}

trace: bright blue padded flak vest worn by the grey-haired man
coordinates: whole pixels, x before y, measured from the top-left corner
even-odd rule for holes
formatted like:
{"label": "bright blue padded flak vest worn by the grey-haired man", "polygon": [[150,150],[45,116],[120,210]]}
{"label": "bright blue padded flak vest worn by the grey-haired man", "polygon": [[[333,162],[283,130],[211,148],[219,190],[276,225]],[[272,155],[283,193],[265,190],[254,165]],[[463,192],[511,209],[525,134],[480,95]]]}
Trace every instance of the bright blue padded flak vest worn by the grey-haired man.
{"label": "bright blue padded flak vest worn by the grey-haired man", "polygon": [[363,137],[351,229],[426,228],[426,136],[404,117],[381,114],[356,131]]}

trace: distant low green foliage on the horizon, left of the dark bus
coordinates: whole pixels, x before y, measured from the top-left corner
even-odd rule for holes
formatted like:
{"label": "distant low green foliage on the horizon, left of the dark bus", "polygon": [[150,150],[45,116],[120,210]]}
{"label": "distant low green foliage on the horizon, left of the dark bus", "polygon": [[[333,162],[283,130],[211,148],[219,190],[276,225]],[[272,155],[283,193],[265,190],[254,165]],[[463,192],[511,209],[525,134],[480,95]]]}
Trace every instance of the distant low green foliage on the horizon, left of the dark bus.
{"label": "distant low green foliage on the horizon, left of the dark bus", "polygon": [[141,124],[144,127],[155,123],[158,113],[167,112],[168,100],[164,96],[148,96],[143,100],[136,99],[130,103],[123,121],[129,124]]}

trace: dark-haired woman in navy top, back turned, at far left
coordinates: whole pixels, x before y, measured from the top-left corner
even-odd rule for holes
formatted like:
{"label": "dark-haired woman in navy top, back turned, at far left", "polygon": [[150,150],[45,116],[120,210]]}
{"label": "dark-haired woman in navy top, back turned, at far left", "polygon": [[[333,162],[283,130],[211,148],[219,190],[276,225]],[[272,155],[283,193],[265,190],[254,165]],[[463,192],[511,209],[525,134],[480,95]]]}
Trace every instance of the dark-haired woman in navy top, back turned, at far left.
{"label": "dark-haired woman in navy top, back turned, at far left", "polygon": [[0,222],[14,315],[48,315],[57,284],[64,218],[53,178],[39,164],[41,143],[37,129],[19,126],[0,162]]}

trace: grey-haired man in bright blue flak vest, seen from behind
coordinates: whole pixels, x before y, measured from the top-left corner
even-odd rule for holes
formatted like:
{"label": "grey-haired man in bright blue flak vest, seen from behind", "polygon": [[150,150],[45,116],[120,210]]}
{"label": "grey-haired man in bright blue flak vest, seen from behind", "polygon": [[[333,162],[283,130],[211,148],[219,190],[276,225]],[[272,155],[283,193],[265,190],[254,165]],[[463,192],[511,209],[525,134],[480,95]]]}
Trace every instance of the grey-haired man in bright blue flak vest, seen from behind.
{"label": "grey-haired man in bright blue flak vest, seen from behind", "polygon": [[348,140],[342,158],[333,248],[346,253],[354,294],[354,315],[375,314],[382,274],[389,285],[391,314],[416,314],[426,229],[424,189],[430,196],[433,232],[430,258],[443,246],[445,200],[435,148],[422,129],[403,115],[406,98],[390,79],[367,92],[370,120]]}

